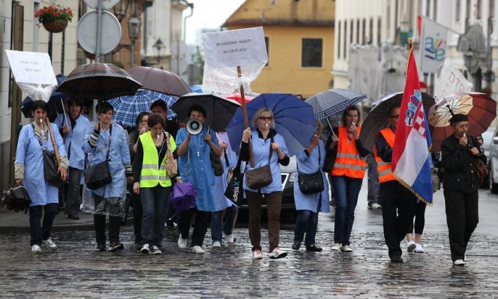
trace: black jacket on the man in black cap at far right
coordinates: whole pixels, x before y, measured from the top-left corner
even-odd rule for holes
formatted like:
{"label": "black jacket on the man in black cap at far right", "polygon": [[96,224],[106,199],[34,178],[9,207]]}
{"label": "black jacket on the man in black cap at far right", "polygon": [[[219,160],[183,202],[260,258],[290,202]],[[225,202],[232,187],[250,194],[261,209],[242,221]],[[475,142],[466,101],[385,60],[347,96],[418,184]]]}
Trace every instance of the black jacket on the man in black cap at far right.
{"label": "black jacket on the man in black cap at far right", "polygon": [[474,159],[480,159],[486,164],[486,156],[477,145],[477,139],[469,136],[470,144],[481,152],[475,156],[470,153],[468,146],[459,144],[459,140],[453,135],[446,138],[441,145],[442,164],[445,168],[443,176],[443,188],[445,191],[457,191],[471,193],[479,189]]}

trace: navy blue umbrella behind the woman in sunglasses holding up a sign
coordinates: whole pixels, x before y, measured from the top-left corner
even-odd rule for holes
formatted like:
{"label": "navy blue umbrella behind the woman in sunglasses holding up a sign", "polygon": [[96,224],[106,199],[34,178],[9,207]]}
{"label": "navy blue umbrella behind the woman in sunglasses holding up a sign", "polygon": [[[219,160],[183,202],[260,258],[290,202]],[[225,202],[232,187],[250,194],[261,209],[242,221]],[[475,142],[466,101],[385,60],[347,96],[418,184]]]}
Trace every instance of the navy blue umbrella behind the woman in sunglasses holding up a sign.
{"label": "navy blue umbrella behind the woman in sunglasses holding up a sign", "polygon": [[[284,138],[291,156],[307,147],[317,130],[313,107],[292,94],[261,94],[248,102],[246,107],[247,117],[250,122],[260,108],[266,107],[273,111],[273,119],[276,124],[275,130]],[[240,142],[244,129],[242,107],[239,107],[226,128],[230,145],[237,153],[240,151]]]}

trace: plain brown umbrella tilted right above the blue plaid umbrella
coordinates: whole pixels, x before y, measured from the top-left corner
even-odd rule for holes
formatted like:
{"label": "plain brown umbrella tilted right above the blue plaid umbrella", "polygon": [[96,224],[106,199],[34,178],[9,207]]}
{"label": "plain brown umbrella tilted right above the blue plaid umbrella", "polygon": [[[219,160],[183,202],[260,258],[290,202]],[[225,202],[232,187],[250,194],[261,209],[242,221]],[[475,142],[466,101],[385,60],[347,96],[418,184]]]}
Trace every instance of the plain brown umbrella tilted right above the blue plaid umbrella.
{"label": "plain brown umbrella tilted right above the blue plaid umbrella", "polygon": [[191,92],[189,85],[175,73],[148,67],[136,67],[129,72],[144,86],[142,87],[144,89],[174,96],[182,96]]}

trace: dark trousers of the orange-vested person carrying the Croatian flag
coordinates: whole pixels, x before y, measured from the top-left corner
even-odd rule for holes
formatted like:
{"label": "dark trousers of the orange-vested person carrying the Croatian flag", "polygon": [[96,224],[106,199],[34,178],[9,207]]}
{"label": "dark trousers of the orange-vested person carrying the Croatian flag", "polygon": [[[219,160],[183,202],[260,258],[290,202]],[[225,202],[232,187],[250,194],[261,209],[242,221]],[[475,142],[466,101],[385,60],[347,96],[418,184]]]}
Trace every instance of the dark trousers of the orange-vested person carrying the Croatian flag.
{"label": "dark trousers of the orange-vested person carrying the Croatian flag", "polygon": [[413,222],[417,198],[398,181],[381,183],[384,239],[389,257],[401,256],[400,242]]}

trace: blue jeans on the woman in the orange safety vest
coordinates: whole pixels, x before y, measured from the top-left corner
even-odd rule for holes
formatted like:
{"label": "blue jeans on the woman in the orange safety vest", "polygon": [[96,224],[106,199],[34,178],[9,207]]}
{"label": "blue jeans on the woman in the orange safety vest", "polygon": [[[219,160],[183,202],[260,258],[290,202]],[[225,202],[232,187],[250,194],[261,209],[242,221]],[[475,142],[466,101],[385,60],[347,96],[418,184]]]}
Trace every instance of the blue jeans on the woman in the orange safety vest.
{"label": "blue jeans on the woman in the orange safety vest", "polygon": [[350,245],[349,237],[354,222],[354,209],[363,180],[346,175],[332,175],[332,185],[336,195],[334,223],[334,243]]}

